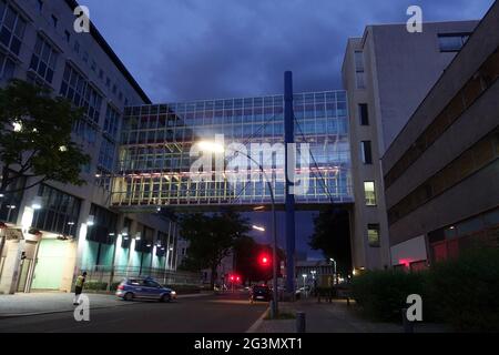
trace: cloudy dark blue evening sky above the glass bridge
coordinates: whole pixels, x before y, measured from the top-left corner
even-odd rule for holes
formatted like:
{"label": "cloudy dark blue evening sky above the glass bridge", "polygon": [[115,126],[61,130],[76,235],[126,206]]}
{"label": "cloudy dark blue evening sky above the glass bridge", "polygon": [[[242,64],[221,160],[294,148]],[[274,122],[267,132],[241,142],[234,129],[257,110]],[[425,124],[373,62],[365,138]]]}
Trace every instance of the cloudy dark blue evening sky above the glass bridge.
{"label": "cloudy dark blue evening sky above the glass bridge", "polygon": [[[151,100],[175,102],[281,93],[285,70],[294,71],[297,92],[340,89],[347,38],[361,37],[365,26],[406,22],[411,4],[422,8],[424,21],[478,20],[493,0],[80,3]],[[254,219],[269,225],[265,213]],[[310,213],[297,221],[297,246],[307,250]],[[269,233],[258,240],[271,242]]]}

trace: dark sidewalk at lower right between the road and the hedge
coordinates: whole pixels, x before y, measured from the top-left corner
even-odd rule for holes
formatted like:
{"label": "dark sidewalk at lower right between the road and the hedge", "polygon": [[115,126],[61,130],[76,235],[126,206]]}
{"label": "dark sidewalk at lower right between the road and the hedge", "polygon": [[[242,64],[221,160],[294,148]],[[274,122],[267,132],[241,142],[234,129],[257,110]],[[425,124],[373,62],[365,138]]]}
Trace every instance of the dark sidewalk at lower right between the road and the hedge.
{"label": "dark sidewalk at lower right between the road and the hedge", "polygon": [[[315,298],[303,300],[296,303],[279,303],[279,312],[296,314],[305,312],[307,333],[403,333],[401,324],[375,323],[363,318],[355,305],[350,302],[335,300],[333,303],[317,303]],[[296,333],[295,320],[259,322],[252,329],[253,333]],[[442,325],[417,324],[415,333],[449,332]]]}

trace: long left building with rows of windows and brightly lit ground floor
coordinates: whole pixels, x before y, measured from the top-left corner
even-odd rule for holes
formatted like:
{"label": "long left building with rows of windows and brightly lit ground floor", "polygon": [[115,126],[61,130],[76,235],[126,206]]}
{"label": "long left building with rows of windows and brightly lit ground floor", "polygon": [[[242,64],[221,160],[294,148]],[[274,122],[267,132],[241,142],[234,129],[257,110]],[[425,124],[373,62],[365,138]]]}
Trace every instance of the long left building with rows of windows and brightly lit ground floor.
{"label": "long left building with rows of windows and brightly lit ground floor", "polygon": [[108,207],[124,106],[150,100],[93,24],[90,33],[73,30],[77,6],[72,0],[0,0],[0,85],[27,80],[83,106],[86,116],[75,124],[73,139],[92,156],[84,186],[49,182],[1,197],[3,293],[70,291],[80,270],[108,281],[113,272],[176,265],[177,233],[161,213]]}

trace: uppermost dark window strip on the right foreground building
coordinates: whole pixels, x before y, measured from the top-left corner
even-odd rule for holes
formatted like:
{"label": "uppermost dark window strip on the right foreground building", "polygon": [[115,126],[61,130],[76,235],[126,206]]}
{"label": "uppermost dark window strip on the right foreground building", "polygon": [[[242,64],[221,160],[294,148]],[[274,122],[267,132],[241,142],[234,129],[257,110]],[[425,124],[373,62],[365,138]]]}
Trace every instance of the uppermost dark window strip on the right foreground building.
{"label": "uppermost dark window strip on the right foreground building", "polygon": [[473,102],[499,78],[499,48],[483,62],[480,69],[449,101],[415,143],[401,155],[385,175],[388,189],[419,156],[473,104]]}

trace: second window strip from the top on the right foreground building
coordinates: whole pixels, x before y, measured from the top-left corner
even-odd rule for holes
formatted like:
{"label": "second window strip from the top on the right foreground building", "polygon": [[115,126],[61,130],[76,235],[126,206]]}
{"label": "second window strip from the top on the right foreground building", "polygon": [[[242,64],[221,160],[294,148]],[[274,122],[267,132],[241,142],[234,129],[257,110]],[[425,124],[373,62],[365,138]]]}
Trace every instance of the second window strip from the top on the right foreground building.
{"label": "second window strip from the top on the right foreground building", "polygon": [[478,141],[438,173],[429,178],[388,211],[388,223],[394,224],[411,211],[435,199],[475,172],[499,158],[499,129]]}

